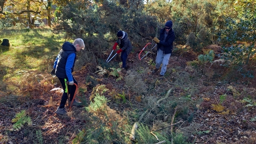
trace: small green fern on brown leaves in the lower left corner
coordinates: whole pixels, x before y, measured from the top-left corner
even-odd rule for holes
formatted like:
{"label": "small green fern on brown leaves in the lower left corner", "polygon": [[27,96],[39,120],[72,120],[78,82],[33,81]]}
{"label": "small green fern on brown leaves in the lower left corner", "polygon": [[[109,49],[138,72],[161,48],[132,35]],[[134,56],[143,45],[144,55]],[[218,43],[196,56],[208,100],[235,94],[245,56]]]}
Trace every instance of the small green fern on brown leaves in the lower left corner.
{"label": "small green fern on brown leaves in the lower left corner", "polygon": [[20,113],[15,115],[15,118],[12,119],[13,124],[13,129],[14,130],[20,130],[24,124],[32,125],[31,118],[27,116],[26,110],[21,110]]}

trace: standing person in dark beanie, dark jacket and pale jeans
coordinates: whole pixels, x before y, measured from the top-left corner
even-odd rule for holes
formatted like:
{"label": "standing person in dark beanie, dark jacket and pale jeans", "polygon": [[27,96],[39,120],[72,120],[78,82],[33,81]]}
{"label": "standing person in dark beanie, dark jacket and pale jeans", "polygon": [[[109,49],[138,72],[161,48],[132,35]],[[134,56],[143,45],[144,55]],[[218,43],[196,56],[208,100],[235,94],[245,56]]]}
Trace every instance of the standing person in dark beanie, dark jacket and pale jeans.
{"label": "standing person in dark beanie, dark jacket and pale jeans", "polygon": [[153,38],[153,41],[157,43],[156,68],[152,71],[153,74],[156,73],[162,64],[160,76],[164,76],[172,54],[174,39],[175,35],[172,29],[172,21],[169,20],[165,23],[165,28],[160,30],[159,39],[157,37]]}

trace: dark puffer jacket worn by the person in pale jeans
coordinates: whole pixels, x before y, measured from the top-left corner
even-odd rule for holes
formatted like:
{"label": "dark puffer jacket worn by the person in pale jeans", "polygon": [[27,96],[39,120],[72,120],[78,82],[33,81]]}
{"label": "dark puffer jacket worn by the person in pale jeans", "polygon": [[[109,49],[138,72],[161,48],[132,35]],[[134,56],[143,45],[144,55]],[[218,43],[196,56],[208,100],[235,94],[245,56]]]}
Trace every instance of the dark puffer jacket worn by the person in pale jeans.
{"label": "dark puffer jacket worn by the person in pale jeans", "polygon": [[162,45],[164,48],[164,54],[172,53],[173,41],[175,39],[174,31],[173,29],[170,29],[169,34],[165,38],[165,42],[162,41],[164,38],[164,33],[165,33],[165,28],[160,30],[160,36],[159,36],[160,42],[157,43],[157,50]]}

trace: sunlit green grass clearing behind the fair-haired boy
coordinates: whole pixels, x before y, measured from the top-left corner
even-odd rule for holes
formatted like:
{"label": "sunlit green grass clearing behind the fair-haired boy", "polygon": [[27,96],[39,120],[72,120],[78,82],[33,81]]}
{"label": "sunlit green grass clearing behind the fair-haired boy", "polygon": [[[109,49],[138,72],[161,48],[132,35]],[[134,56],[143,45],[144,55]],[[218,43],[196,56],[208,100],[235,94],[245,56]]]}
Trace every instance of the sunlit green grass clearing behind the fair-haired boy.
{"label": "sunlit green grass clearing behind the fair-haired boy", "polygon": [[0,46],[0,91],[13,90],[26,71],[49,72],[65,42],[64,34],[51,29],[1,30],[0,39],[9,39],[10,47]]}

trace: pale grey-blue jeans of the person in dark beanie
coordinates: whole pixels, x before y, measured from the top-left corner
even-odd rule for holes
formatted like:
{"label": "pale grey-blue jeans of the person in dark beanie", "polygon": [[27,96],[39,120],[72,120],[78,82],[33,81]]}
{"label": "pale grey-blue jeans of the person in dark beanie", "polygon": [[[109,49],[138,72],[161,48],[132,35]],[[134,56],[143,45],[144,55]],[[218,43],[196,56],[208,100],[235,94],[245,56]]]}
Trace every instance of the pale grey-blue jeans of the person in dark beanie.
{"label": "pale grey-blue jeans of the person in dark beanie", "polygon": [[162,68],[161,68],[161,72],[160,75],[165,74],[166,72],[166,67],[169,63],[169,59],[171,57],[171,53],[168,54],[164,54],[162,50],[158,50],[157,51],[157,55],[156,55],[156,68],[160,68],[161,64],[162,64]]}

